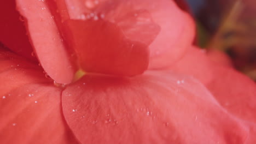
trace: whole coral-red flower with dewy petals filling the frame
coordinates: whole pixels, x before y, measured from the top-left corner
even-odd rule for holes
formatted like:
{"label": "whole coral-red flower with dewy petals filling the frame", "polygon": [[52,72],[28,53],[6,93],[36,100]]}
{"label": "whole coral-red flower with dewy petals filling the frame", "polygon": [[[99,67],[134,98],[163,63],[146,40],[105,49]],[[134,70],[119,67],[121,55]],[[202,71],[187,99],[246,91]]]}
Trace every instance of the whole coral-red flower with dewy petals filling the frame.
{"label": "whole coral-red flower with dewy petals filling the frame", "polygon": [[174,2],[18,0],[28,37],[14,4],[0,2],[15,52],[0,48],[1,143],[256,141],[255,83],[192,47]]}

